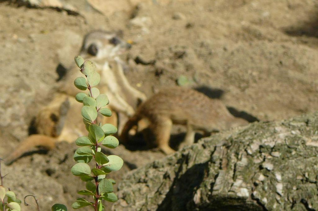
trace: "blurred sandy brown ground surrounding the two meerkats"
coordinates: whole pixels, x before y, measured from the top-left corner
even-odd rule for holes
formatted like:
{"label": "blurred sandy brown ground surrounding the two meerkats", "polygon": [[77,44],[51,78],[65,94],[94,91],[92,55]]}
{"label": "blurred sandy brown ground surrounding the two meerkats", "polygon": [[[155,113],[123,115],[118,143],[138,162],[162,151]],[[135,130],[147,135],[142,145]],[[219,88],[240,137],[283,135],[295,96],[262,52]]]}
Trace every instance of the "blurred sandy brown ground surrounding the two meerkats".
{"label": "blurred sandy brown ground surrounding the two meerkats", "polygon": [[[123,55],[130,83],[149,97],[180,76],[188,86],[222,92],[221,100],[261,121],[287,119],[318,109],[318,2],[311,0],[201,0],[140,4],[104,15],[85,1],[82,15],[16,7],[0,2],[0,157],[28,136],[32,118],[54,94],[58,65],[69,67],[83,36],[93,29],[123,30],[134,41]],[[160,1],[158,1],[160,2]],[[136,64],[139,56],[155,64]],[[130,61],[130,62],[129,62]],[[76,146],[61,143],[47,155],[33,154],[2,165],[5,186],[19,198],[33,194],[41,210],[70,207],[84,188],[69,172]],[[163,158],[157,151],[109,153],[125,160],[113,178]],[[32,201],[32,200],[28,200]],[[34,203],[23,210],[35,210]],[[107,206],[110,206],[109,204]]]}

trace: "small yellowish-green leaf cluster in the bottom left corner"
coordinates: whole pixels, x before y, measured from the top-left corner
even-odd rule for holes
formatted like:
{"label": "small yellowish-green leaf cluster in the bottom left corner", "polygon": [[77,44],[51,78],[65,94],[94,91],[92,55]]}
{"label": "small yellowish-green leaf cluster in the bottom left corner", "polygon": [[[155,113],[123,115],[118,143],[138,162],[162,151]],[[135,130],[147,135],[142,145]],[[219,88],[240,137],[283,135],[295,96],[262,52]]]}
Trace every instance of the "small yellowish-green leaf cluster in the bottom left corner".
{"label": "small yellowish-green leaf cluster in the bottom left corner", "polygon": [[21,200],[15,197],[15,194],[0,185],[0,210],[1,211],[20,211]]}

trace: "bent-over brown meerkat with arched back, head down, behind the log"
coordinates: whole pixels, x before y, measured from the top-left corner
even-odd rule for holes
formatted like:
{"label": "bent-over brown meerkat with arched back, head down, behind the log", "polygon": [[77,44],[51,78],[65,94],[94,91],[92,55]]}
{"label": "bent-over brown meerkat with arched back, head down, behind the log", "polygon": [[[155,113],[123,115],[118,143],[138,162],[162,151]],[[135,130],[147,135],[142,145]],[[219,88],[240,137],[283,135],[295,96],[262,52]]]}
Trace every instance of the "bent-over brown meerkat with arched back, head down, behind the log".
{"label": "bent-over brown meerkat with arched back, head down, behind the log", "polygon": [[172,124],[186,126],[186,136],[180,145],[184,147],[194,143],[195,131],[203,131],[207,136],[247,123],[232,116],[220,100],[210,99],[193,89],[174,87],[161,90],[137,108],[123,128],[121,141],[127,142],[130,129],[137,126],[137,131],[143,131],[149,147],[172,154],[175,152],[169,146]]}

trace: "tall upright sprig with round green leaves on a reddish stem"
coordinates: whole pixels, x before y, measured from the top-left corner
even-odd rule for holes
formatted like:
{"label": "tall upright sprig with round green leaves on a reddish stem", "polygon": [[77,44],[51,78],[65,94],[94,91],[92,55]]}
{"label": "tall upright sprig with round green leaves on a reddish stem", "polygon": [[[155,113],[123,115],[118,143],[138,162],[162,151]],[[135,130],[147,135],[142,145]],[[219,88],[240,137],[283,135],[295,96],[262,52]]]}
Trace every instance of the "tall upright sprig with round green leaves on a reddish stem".
{"label": "tall upright sprig with round green leaves on a reddish stem", "polygon": [[[118,140],[111,136],[117,132],[117,128],[111,124],[102,124],[97,122],[98,113],[110,117],[111,111],[106,108],[109,100],[106,94],[100,94],[100,91],[94,87],[100,83],[100,74],[96,71],[95,65],[91,61],[84,61],[81,56],[75,56],[75,63],[80,71],[85,75],[78,77],[74,81],[75,87],[79,90],[88,90],[88,93],[80,92],[76,94],[76,101],[84,104],[82,108],[83,122],[88,130],[88,136],[79,137],[75,143],[79,146],[74,154],[74,160],[77,162],[72,168],[73,175],[80,177],[86,182],[86,189],[78,191],[80,195],[91,196],[93,202],[84,198],[78,198],[73,204],[74,209],[92,206],[94,210],[104,210],[103,200],[115,202],[117,196],[113,193],[113,179],[107,179],[111,171],[121,169],[123,159],[118,156],[106,156],[101,151],[101,146],[115,148],[118,146]],[[94,160],[94,167],[88,165]],[[55,204],[52,210],[66,210],[61,204]]]}

